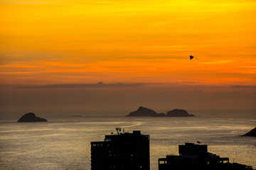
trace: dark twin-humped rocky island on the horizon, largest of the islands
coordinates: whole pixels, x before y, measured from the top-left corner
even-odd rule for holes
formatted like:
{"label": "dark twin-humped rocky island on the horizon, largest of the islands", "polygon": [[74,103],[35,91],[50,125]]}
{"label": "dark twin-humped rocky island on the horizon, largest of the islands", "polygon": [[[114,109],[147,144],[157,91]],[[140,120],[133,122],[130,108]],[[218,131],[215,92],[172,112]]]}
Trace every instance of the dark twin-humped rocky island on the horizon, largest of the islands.
{"label": "dark twin-humped rocky island on the horizon, largest of the islands", "polygon": [[174,109],[165,113],[156,113],[156,111],[150,108],[144,108],[140,106],[137,111],[133,111],[126,116],[149,116],[149,117],[188,117],[195,116],[188,114],[187,111],[183,109]]}

